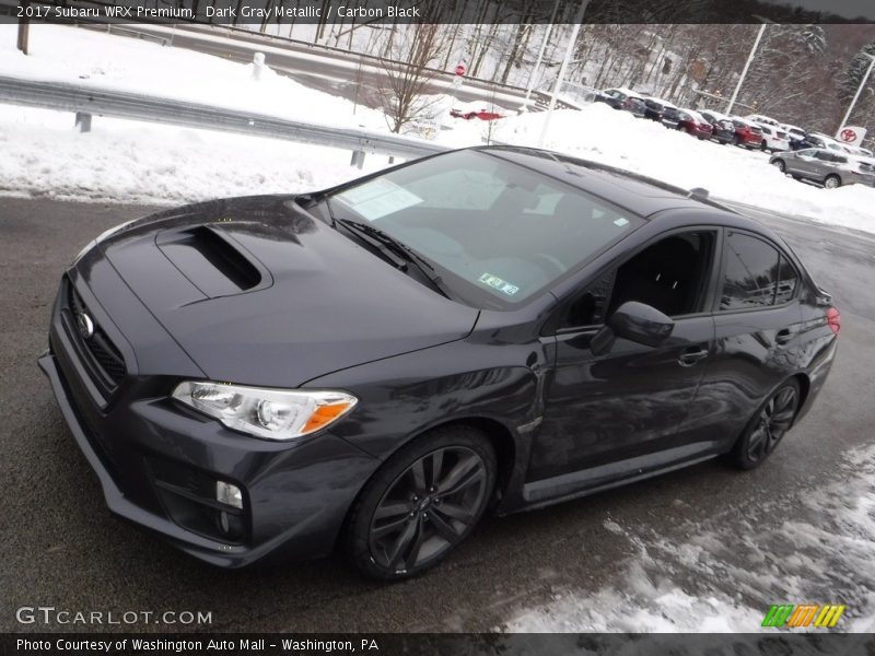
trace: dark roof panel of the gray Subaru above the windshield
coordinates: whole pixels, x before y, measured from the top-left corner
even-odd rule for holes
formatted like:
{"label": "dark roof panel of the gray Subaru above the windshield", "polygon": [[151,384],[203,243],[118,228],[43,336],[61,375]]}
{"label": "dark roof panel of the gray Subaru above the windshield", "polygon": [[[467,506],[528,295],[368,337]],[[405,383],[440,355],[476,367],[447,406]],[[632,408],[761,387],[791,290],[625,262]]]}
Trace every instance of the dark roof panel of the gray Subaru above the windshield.
{"label": "dark roof panel of the gray Subaru above the windshield", "polygon": [[698,195],[693,197],[688,189],[597,162],[533,148],[480,147],[477,150],[538,171],[645,219],[677,208],[719,209],[738,215],[718,202]]}

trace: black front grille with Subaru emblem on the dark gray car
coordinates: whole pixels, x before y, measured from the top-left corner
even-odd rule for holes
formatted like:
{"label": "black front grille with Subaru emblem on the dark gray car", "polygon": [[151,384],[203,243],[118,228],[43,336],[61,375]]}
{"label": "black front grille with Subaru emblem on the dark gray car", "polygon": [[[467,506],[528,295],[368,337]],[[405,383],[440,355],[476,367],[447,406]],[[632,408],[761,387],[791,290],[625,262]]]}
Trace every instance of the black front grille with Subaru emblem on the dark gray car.
{"label": "black front grille with Subaru emblem on the dark gray car", "polygon": [[[69,279],[65,279],[61,313],[67,336],[77,345],[92,380],[104,396],[109,396],[125,379],[125,358],[94,319],[93,313],[89,312]],[[91,319],[93,332],[90,337],[84,337],[80,330],[80,318],[83,315]]]}

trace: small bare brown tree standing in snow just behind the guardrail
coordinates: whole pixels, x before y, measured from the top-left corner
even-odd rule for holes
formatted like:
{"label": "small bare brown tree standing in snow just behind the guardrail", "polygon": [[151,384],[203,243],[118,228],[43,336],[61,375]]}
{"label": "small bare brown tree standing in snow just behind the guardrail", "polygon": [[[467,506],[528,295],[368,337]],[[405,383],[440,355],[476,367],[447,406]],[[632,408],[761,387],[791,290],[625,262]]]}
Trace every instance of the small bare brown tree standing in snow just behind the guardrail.
{"label": "small bare brown tree standing in snow just behind the guardrail", "polygon": [[378,92],[386,122],[393,132],[429,115],[436,97],[427,97],[429,84],[438,74],[434,61],[443,54],[447,26],[438,23],[416,23],[398,30],[392,51],[385,62]]}

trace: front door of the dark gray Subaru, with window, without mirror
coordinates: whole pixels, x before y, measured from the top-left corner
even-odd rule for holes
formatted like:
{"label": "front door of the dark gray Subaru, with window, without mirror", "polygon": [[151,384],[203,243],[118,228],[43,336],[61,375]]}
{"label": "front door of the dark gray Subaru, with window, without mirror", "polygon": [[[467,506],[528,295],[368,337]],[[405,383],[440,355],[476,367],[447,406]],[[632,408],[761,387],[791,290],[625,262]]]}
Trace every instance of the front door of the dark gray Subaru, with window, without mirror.
{"label": "front door of the dark gray Subaru, with window, without mirror", "polygon": [[[663,462],[689,455],[675,434],[714,348],[713,319],[702,308],[715,276],[716,235],[701,229],[655,239],[560,306],[555,368],[527,477],[530,500],[633,475],[653,465],[649,458],[657,452]],[[691,301],[673,300],[681,294]],[[658,348],[618,339],[608,353],[594,355],[593,336],[631,300],[668,311],[672,337]]]}

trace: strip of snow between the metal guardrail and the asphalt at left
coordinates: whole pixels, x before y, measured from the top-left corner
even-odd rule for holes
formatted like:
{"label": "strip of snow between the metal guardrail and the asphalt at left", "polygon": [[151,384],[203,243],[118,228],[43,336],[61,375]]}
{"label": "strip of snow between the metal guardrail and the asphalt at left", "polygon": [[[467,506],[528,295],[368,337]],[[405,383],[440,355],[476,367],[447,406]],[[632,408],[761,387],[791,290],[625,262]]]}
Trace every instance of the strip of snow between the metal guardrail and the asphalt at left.
{"label": "strip of snow between the metal guardrail and the asphalt at left", "polygon": [[[85,202],[179,204],[294,194],[359,175],[340,150],[0,105],[0,195]],[[365,169],[386,157],[369,156]]]}

